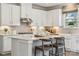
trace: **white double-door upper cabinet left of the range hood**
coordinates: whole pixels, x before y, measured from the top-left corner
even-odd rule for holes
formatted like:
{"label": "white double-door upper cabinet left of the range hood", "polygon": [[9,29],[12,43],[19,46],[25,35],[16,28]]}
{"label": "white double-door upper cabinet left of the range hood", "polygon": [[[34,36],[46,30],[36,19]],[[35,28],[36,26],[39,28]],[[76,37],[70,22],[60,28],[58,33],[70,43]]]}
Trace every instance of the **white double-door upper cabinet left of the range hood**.
{"label": "white double-door upper cabinet left of the range hood", "polygon": [[20,25],[20,6],[11,4],[0,5],[0,25]]}

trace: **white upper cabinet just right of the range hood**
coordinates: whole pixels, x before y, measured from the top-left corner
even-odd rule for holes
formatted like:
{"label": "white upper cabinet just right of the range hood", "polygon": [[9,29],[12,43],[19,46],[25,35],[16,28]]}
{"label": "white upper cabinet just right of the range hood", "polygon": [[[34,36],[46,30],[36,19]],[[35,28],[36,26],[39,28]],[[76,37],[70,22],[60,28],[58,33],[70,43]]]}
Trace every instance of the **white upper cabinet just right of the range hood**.
{"label": "white upper cabinet just right of the range hood", "polygon": [[34,25],[46,26],[49,23],[47,11],[32,9],[32,20]]}

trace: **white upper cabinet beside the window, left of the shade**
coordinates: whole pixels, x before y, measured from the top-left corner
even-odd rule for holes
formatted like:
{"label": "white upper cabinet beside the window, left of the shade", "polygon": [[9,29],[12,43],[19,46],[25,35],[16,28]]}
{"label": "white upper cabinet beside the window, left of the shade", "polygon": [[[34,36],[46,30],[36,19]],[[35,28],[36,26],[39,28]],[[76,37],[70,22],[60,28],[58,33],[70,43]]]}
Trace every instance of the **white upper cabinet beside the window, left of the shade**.
{"label": "white upper cabinet beside the window, left of the shade", "polygon": [[62,26],[62,9],[48,11],[48,20],[53,26]]}

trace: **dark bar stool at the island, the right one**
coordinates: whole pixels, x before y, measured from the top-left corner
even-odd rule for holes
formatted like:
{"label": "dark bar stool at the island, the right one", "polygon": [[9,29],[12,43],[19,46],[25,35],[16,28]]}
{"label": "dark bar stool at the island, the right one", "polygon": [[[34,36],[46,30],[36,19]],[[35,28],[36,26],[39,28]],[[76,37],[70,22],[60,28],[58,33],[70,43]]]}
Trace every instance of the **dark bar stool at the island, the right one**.
{"label": "dark bar stool at the island, the right one", "polygon": [[[55,37],[54,39],[56,40],[55,44],[53,44],[53,47],[55,48],[55,54],[52,53],[52,50],[49,50],[49,55],[60,56],[65,54],[65,38]],[[60,52],[59,49],[64,49],[64,53]]]}

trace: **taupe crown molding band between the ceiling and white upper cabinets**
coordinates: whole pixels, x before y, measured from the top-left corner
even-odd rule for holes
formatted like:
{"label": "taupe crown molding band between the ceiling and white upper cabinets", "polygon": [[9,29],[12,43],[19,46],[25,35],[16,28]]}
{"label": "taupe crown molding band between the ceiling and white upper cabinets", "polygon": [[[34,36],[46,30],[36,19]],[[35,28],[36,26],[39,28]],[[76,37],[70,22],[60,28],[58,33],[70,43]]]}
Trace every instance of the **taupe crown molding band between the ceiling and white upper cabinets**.
{"label": "taupe crown molding band between the ceiling and white upper cabinets", "polygon": [[[79,3],[74,3],[74,4],[79,5]],[[59,4],[59,5],[55,5],[55,6],[43,7],[43,6],[39,6],[39,5],[36,5],[36,4],[32,4],[32,8],[50,11],[50,10],[54,10],[54,9],[62,9],[63,6],[66,6],[66,5],[67,5],[67,3],[63,3],[63,4]]]}

